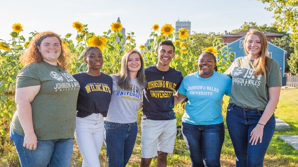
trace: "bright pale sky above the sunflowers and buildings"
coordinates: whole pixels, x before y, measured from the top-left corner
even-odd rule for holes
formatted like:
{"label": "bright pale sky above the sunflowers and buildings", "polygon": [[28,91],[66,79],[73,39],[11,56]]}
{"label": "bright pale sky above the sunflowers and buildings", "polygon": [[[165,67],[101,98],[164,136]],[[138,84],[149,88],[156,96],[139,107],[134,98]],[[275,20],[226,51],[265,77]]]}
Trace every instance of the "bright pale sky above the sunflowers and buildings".
{"label": "bright pale sky above the sunflowers and buildings", "polygon": [[11,40],[13,23],[21,23],[24,31],[20,35],[26,40],[33,31],[54,31],[63,37],[72,33],[71,39],[75,39],[75,21],[88,24],[89,32],[101,36],[119,17],[126,33],[135,33],[139,50],[149,39],[153,24],[175,28],[178,19],[190,21],[191,34],[229,32],[244,22],[271,26],[273,12],[264,9],[268,6],[257,0],[6,0],[1,1],[0,39]]}

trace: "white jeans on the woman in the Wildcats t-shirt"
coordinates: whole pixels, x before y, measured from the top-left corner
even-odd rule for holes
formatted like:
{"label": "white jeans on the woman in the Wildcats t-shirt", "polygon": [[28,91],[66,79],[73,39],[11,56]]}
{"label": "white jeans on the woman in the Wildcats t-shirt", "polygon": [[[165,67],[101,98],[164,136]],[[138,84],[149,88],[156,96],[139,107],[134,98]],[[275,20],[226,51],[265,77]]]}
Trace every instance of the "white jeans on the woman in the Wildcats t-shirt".
{"label": "white jeans on the woman in the Wildcats t-shirt", "polygon": [[82,167],[100,167],[99,154],[103,146],[103,115],[76,117],[75,140],[83,156]]}

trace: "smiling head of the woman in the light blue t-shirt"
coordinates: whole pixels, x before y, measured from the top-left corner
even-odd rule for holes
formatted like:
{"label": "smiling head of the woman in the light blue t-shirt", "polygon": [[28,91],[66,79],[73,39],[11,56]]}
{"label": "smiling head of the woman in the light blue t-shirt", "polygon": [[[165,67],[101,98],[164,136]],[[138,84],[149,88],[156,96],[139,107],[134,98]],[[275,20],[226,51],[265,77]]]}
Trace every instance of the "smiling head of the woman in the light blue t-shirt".
{"label": "smiling head of the woman in the light blue t-shirt", "polygon": [[202,78],[209,78],[213,75],[214,67],[216,65],[215,58],[208,53],[204,53],[199,57],[198,67],[199,74]]}

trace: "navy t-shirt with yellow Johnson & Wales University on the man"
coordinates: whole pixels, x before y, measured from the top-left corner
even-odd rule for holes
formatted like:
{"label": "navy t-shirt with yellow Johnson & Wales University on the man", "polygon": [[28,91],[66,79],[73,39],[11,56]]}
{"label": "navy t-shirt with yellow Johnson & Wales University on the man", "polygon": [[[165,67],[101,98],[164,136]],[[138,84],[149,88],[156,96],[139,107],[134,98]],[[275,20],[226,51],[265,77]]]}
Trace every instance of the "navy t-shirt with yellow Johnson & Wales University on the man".
{"label": "navy t-shirt with yellow Johnson & Wales University on the man", "polygon": [[171,120],[176,119],[174,113],[173,91],[177,91],[183,75],[171,68],[160,71],[155,66],[145,68],[147,88],[143,93],[142,119]]}

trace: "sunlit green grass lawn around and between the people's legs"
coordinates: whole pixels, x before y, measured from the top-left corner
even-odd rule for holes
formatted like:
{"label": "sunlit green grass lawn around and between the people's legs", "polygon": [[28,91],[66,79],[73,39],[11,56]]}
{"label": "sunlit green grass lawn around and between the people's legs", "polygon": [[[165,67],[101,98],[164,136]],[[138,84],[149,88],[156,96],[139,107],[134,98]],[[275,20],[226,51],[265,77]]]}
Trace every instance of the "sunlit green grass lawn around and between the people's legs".
{"label": "sunlit green grass lawn around and between the people's legs", "polygon": [[[224,108],[228,105],[229,97],[224,97]],[[294,149],[290,144],[285,143],[278,136],[279,135],[298,135],[298,89],[282,90],[280,94],[280,102],[277,105],[275,116],[287,122],[291,130],[275,131],[271,140],[269,148],[266,152],[264,166],[265,167],[298,167],[298,150]],[[212,107],[212,106],[210,106]],[[176,105],[175,112],[177,116],[177,126],[181,124],[181,117],[183,109],[181,104]],[[138,123],[140,125],[140,118],[142,113],[138,112]],[[226,110],[223,112],[226,116]],[[225,125],[226,127],[226,125]],[[141,160],[141,129],[136,139],[133,155],[128,163],[128,167],[139,166]],[[18,155],[12,144],[6,143],[4,152],[0,155],[0,167],[17,167],[20,166]],[[107,167],[106,152],[103,149],[100,152],[100,161],[102,167]],[[80,167],[82,163],[82,156],[74,140],[74,153],[73,153],[72,167]],[[151,166],[155,166],[156,158],[153,158]],[[169,154],[168,166],[170,167],[190,167],[190,157],[184,140],[176,140],[175,149],[173,154]],[[222,167],[235,167],[235,155],[232,142],[229,138],[228,130],[225,132],[224,145],[221,151],[221,166]]]}

